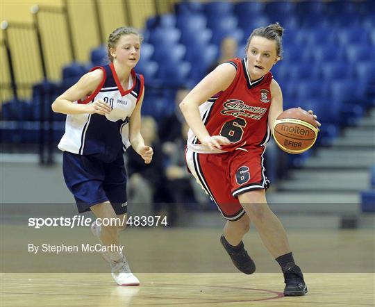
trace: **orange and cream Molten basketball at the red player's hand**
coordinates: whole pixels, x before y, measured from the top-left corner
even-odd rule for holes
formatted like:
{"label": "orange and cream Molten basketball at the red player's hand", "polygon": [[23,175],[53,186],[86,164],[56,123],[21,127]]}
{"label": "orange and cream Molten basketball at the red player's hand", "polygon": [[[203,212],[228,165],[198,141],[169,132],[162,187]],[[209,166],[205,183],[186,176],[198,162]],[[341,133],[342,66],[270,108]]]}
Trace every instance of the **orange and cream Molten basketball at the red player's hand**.
{"label": "orange and cream Molten basketball at the red player's hand", "polygon": [[274,140],[289,154],[301,154],[313,147],[317,133],[313,115],[301,108],[285,110],[274,123]]}

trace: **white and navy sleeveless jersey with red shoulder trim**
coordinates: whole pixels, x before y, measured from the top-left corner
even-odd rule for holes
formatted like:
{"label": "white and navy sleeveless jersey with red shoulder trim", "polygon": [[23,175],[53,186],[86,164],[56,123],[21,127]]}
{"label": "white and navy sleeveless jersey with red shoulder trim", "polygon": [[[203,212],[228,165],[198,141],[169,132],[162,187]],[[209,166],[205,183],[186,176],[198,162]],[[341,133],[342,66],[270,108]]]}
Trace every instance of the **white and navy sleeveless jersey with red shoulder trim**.
{"label": "white and navy sleeveless jersey with red shoulder trim", "polygon": [[93,103],[102,99],[110,105],[109,115],[78,114],[67,115],[65,134],[58,148],[79,155],[94,155],[110,162],[130,146],[128,120],[144,89],[143,76],[131,70],[128,89],[124,90],[117,77],[113,63],[101,69],[103,80],[89,97],[74,103]]}

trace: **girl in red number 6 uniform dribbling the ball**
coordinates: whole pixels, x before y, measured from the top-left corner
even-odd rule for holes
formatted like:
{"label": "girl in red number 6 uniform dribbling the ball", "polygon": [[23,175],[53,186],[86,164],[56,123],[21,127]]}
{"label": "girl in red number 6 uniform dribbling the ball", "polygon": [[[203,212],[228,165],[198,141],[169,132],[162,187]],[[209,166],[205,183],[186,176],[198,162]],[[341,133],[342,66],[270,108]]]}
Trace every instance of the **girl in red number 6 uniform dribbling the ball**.
{"label": "girl in red number 6 uniform dribbling the ball", "polygon": [[285,296],[297,296],[306,294],[306,284],[285,229],[267,204],[263,166],[265,144],[283,112],[281,88],[269,72],[282,57],[282,35],[278,23],[256,28],[247,41],[247,58],[219,65],[180,108],[190,126],[188,167],[227,219],[221,242],[235,267],[255,272],[242,242],[251,221],[281,266]]}

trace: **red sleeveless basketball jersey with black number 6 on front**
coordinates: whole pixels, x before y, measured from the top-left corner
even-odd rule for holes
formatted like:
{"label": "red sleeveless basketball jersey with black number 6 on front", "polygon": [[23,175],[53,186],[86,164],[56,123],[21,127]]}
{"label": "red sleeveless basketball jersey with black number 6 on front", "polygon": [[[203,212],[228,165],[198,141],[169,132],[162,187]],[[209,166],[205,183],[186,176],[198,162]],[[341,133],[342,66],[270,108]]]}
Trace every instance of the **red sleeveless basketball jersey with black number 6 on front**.
{"label": "red sleeveless basketball jersey with black number 6 on front", "polygon": [[271,132],[267,125],[271,105],[270,84],[272,74],[251,81],[247,58],[229,60],[237,73],[229,88],[219,92],[199,106],[201,118],[210,135],[222,135],[231,144],[222,150],[203,146],[194,133],[189,131],[188,147],[199,153],[220,153],[261,146],[268,142]]}

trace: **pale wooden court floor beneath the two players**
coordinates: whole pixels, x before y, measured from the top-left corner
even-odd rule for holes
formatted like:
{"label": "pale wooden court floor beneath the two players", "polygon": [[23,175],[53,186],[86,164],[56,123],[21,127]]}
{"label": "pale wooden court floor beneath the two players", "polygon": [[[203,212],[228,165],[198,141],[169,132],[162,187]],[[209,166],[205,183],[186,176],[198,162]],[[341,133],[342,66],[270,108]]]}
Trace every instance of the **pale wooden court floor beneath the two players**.
{"label": "pale wooden court floor beneath the two players", "polygon": [[141,285],[122,287],[97,254],[25,252],[27,242],[95,242],[90,229],[24,228],[1,226],[1,307],[375,306],[372,230],[288,231],[308,294],[283,297],[280,269],[253,229],[244,239],[257,265],[250,276],[224,253],[221,229],[128,229],[122,242]]}

